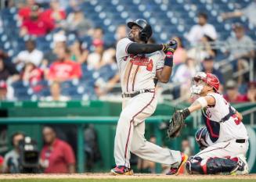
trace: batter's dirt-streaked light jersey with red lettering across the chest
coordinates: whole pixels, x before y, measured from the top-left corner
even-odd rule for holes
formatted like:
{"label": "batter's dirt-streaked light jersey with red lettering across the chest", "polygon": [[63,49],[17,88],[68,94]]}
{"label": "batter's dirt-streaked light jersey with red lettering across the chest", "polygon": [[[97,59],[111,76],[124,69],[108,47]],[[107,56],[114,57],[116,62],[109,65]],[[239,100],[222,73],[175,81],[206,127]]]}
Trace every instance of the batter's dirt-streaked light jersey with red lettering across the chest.
{"label": "batter's dirt-streaked light jersey with red lettering across the chest", "polygon": [[121,87],[124,93],[153,89],[153,78],[156,72],[164,67],[164,52],[154,52],[146,55],[128,54],[128,45],[132,44],[128,38],[117,43],[117,66],[121,75]]}

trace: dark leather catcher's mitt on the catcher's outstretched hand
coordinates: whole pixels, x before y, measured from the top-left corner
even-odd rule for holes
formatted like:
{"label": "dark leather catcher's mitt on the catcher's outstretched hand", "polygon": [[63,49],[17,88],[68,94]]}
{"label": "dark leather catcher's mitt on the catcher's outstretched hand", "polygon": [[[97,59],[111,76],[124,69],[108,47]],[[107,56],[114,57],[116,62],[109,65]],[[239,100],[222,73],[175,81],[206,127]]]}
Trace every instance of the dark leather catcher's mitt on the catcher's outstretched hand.
{"label": "dark leather catcher's mitt on the catcher's outstretched hand", "polygon": [[175,111],[168,126],[168,137],[178,137],[178,135],[181,133],[182,127],[185,125],[184,120],[185,118],[182,111]]}

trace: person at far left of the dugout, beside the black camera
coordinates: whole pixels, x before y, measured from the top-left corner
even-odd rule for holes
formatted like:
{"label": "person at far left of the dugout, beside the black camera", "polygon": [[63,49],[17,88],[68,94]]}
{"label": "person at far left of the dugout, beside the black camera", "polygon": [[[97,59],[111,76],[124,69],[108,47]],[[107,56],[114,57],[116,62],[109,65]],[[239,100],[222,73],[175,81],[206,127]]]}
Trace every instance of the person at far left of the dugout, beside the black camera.
{"label": "person at far left of the dugout, beside the black camera", "polygon": [[20,173],[19,159],[19,142],[23,140],[25,135],[20,132],[16,132],[11,137],[11,142],[13,145],[13,150],[5,154],[3,172],[4,173]]}

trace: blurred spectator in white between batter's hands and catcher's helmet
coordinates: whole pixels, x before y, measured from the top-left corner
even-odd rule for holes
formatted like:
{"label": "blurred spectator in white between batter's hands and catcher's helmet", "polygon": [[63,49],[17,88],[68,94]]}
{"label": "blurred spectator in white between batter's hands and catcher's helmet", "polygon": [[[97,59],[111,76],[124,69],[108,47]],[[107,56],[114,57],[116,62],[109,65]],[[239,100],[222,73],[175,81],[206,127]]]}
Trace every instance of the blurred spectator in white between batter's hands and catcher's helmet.
{"label": "blurred spectator in white between batter's hands and catcher's helmet", "polygon": [[190,97],[190,90],[188,85],[191,85],[191,79],[196,73],[196,62],[194,59],[188,58],[184,64],[180,64],[175,71],[175,75],[172,80],[175,83],[180,83],[180,93],[184,99]]}

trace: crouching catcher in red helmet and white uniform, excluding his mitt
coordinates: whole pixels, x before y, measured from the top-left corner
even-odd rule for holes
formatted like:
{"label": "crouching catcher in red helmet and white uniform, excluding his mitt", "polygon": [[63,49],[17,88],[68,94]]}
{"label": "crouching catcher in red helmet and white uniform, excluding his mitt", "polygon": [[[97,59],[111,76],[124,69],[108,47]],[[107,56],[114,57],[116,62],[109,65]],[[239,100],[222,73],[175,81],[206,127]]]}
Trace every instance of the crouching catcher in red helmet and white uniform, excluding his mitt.
{"label": "crouching catcher in red helmet and white uniform, excluding his mitt", "polygon": [[192,105],[181,111],[186,118],[202,109],[206,127],[197,130],[196,140],[202,149],[186,162],[189,173],[248,173],[245,155],[247,130],[242,116],[218,93],[219,80],[211,73],[197,73],[191,91],[199,95]]}

